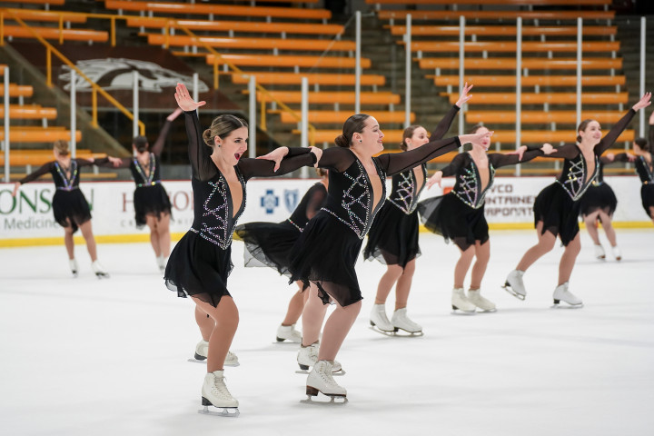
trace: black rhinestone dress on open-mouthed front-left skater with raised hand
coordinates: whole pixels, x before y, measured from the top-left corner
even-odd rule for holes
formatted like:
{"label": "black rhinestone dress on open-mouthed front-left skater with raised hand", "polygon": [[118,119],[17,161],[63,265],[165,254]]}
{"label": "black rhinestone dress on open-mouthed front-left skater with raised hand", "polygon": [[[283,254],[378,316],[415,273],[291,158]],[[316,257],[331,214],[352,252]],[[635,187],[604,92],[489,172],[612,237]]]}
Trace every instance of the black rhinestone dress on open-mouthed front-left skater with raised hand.
{"label": "black rhinestone dress on open-mouthed front-left skater with raised hand", "polygon": [[212,161],[211,147],[203,143],[202,130],[195,111],[186,112],[189,160],[193,176],[193,225],[171,253],[164,273],[165,284],[180,297],[192,295],[217,306],[227,291],[232,272],[232,235],[245,208],[245,183],[255,176],[272,177],[290,173],[315,163],[310,149],[289,149],[279,170],[263,159],[243,158],[234,166],[241,182],[243,202],[233,209],[229,183]]}

